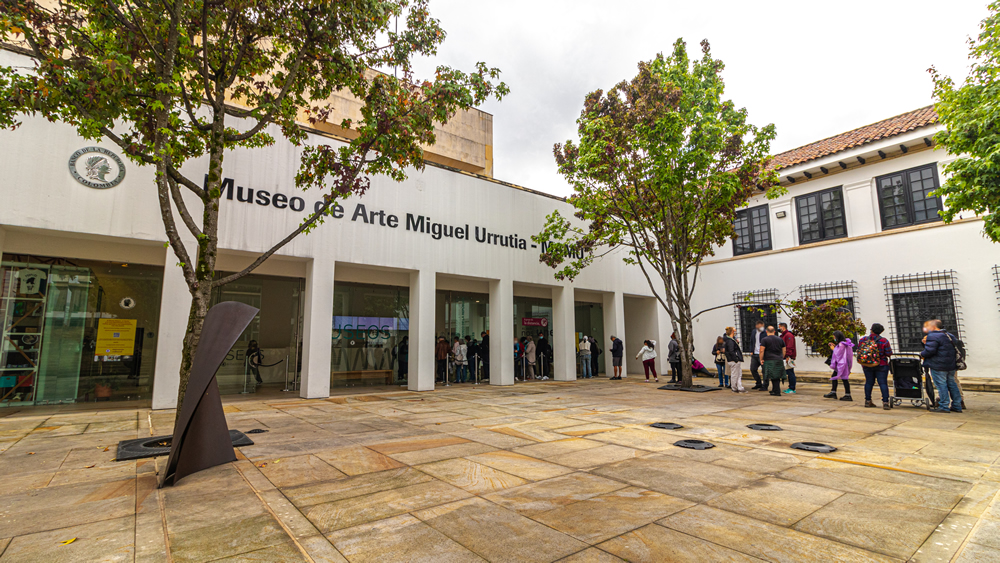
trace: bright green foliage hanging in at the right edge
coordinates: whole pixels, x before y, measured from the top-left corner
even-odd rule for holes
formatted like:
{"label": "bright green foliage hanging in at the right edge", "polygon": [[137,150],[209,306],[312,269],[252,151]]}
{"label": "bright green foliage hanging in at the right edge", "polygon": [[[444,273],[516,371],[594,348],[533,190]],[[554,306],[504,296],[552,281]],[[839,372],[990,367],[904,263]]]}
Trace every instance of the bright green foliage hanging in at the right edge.
{"label": "bright green foliage hanging in at the right edge", "polygon": [[962,85],[933,67],[934,108],[945,130],[935,136],[953,155],[937,194],[947,198],[945,222],[964,211],[981,215],[983,233],[1000,242],[1000,2],[989,6],[980,34],[969,39],[971,72]]}

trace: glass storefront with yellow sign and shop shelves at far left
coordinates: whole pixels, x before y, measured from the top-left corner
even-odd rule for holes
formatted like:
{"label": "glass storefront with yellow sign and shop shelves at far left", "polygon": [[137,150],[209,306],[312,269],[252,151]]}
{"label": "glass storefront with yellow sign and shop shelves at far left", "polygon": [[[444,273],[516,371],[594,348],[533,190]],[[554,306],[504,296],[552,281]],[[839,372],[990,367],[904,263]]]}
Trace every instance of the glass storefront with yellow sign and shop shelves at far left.
{"label": "glass storefront with yellow sign and shop shelves at far left", "polygon": [[4,255],[0,405],[147,400],[163,268]]}

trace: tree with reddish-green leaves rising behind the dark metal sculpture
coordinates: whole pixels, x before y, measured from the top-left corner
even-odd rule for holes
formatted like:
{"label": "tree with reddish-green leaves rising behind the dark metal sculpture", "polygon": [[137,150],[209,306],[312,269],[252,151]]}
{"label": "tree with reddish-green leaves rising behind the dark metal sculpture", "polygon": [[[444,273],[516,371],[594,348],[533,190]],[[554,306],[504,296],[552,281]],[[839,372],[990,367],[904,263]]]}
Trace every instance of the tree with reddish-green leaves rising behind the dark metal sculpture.
{"label": "tree with reddish-green leaves rising behind the dark metal sculpture", "polygon": [[[33,62],[0,66],[0,127],[41,115],[156,171],[150,188],[191,293],[178,413],[214,288],[321,223],[337,198],[364,194],[369,176],[401,181],[407,167],[422,169],[421,145],[434,143],[435,125],[507,92],[493,82],[499,71],[482,63],[468,74],[439,67],[433,79],[413,80],[413,59],[435,54],[445,37],[428,0],[0,2],[0,41]],[[273,145],[275,134],[301,145],[302,112],[309,123],[324,121],[336,92],[363,102],[359,121],[340,123],[356,137],[304,148],[295,177],[298,187],[321,191],[321,205],[249,266],[216,279],[224,155]],[[182,172],[202,156],[207,170]]]}

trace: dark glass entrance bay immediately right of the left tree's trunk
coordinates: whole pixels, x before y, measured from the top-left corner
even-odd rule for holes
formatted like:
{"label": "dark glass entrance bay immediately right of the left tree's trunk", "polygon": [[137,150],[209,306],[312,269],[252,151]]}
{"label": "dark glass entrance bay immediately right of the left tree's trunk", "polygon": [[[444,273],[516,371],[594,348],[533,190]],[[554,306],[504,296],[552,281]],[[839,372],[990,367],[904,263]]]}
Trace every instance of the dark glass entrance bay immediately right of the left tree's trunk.
{"label": "dark glass entrance bay immediately right of the left tree's trunk", "polygon": [[[226,275],[216,273],[218,278]],[[212,305],[237,301],[260,309],[219,368],[220,393],[252,393],[260,385],[298,389],[304,288],[301,278],[250,274],[215,289]]]}

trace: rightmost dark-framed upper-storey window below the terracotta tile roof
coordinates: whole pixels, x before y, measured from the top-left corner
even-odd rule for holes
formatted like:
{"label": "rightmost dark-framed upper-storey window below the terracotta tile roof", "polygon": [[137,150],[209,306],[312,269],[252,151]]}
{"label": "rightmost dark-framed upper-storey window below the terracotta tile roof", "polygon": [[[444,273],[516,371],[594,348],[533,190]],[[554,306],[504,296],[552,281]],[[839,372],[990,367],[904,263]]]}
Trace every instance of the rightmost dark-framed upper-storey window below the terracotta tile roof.
{"label": "rightmost dark-framed upper-storey window below the terracotta tile roof", "polygon": [[880,176],[875,184],[883,229],[941,220],[941,198],[931,195],[939,186],[936,163]]}

